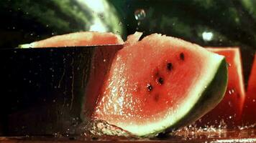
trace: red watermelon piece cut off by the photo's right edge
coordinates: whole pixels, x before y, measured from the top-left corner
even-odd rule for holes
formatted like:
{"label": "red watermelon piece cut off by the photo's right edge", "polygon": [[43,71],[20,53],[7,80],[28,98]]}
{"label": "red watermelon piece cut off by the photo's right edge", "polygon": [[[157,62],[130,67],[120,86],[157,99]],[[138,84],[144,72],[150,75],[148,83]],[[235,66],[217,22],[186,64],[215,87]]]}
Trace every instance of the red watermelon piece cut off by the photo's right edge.
{"label": "red watermelon piece cut off by the photo's right edge", "polygon": [[246,99],[244,103],[243,123],[256,124],[256,54],[248,81]]}

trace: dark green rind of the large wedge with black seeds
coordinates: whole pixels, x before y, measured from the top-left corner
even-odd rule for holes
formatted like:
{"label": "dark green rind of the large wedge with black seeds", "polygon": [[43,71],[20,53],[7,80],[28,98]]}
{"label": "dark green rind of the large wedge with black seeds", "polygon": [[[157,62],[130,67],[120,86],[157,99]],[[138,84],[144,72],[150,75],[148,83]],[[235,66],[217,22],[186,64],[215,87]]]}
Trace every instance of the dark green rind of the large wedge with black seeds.
{"label": "dark green rind of the large wedge with black seeds", "polygon": [[185,125],[184,123],[187,125],[191,124],[196,121],[196,119],[204,116],[204,114],[209,112],[211,109],[214,109],[214,107],[216,107],[224,97],[224,93],[227,89],[227,82],[227,62],[223,59],[221,64],[219,64],[219,69],[216,71],[214,79],[212,79],[209,86],[206,87],[200,99],[198,99],[198,102],[194,104],[193,108],[190,109],[186,116],[170,126],[164,132],[172,132],[179,127],[183,127]]}

